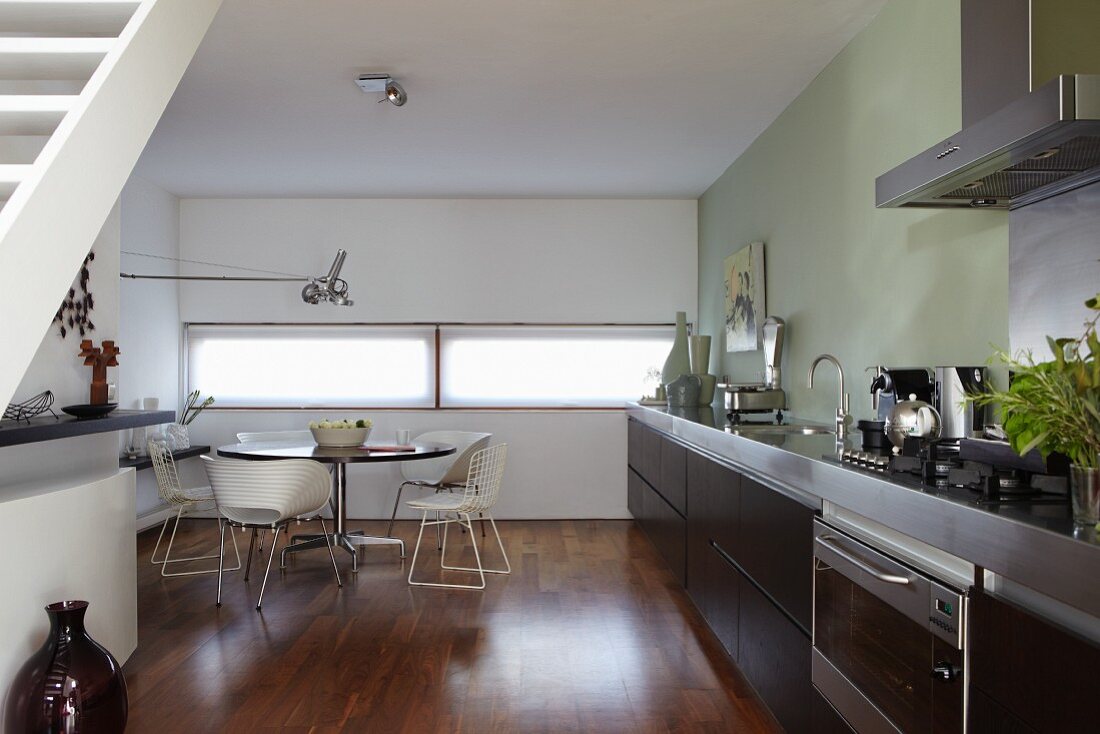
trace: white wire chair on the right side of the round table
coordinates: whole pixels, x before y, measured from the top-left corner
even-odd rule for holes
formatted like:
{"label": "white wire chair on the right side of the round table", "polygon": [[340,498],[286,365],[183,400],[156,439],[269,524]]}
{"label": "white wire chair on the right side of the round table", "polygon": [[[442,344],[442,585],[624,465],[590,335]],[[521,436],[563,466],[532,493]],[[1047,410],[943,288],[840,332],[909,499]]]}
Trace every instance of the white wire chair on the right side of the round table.
{"label": "white wire chair on the right side of the round table", "polygon": [[[512,573],[512,563],[508,562],[508,554],[504,549],[501,540],[501,532],[496,528],[496,522],[490,512],[496,504],[501,495],[501,476],[504,474],[504,462],[508,454],[508,445],[498,443],[487,449],[477,451],[470,459],[470,473],[466,476],[465,486],[462,493],[438,493],[422,500],[406,502],[409,507],[419,510],[420,533],[416,538],[416,549],[413,551],[413,562],[409,565],[409,583],[414,587],[444,587],[448,589],[484,589],[486,573]],[[437,519],[429,521],[428,513],[436,513]],[[493,526],[493,534],[496,536],[496,544],[501,547],[501,555],[504,556],[503,569],[490,569],[482,565],[481,554],[477,550],[477,539],[473,535],[471,515],[482,513],[488,517]],[[449,516],[453,515],[453,516]],[[465,519],[463,521],[463,516]],[[447,565],[447,528],[458,523],[460,527],[470,530],[470,539],[474,546],[474,559],[476,567],[448,566]],[[481,584],[464,583],[430,583],[426,581],[414,581],[413,571],[416,569],[417,554],[420,552],[420,540],[424,538],[424,528],[428,525],[443,526],[443,543],[439,556],[439,565],[448,571],[472,571],[481,578]]]}

